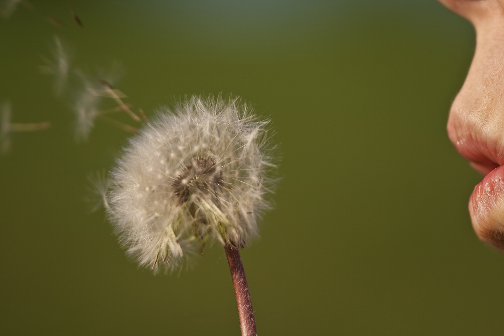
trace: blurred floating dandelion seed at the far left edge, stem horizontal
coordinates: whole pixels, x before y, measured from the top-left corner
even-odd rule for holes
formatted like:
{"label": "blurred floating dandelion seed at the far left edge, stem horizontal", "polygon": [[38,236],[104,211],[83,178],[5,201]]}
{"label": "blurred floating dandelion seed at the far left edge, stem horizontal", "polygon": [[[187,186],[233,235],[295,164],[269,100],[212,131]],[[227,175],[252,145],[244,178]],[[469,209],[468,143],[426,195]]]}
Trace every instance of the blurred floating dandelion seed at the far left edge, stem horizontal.
{"label": "blurred floating dandelion seed at the far left edge, stem horizontal", "polygon": [[0,153],[7,154],[11,149],[12,132],[31,132],[36,130],[45,130],[49,128],[50,123],[13,123],[11,122],[11,104],[4,102],[0,107]]}

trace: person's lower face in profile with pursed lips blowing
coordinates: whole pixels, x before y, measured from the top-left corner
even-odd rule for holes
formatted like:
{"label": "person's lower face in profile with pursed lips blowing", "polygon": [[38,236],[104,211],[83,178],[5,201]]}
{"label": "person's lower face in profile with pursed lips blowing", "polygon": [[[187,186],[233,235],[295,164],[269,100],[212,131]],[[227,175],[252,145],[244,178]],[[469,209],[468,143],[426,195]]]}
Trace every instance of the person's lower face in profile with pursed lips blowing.
{"label": "person's lower face in profile with pursed lips blowing", "polygon": [[439,0],[469,20],[476,51],[450,109],[448,136],[485,175],[469,199],[478,237],[504,252],[504,0]]}

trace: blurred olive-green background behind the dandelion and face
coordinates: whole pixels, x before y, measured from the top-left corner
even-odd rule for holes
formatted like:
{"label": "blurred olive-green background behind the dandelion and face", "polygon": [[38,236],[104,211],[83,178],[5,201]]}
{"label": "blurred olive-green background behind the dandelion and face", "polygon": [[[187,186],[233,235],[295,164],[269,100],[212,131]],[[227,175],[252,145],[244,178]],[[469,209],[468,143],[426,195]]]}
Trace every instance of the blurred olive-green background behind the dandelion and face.
{"label": "blurred olive-green background behind the dandelion and face", "polygon": [[242,250],[260,335],[498,335],[504,257],[467,201],[481,177],[445,130],[474,31],[425,1],[32,1],[0,21],[0,99],[14,135],[0,157],[0,333],[237,335],[222,247],[153,276],[125,257],[86,176],[126,135],[75,117],[40,73],[54,35],[148,115],[191,94],[233,93],[271,116],[283,177],[261,239]]}

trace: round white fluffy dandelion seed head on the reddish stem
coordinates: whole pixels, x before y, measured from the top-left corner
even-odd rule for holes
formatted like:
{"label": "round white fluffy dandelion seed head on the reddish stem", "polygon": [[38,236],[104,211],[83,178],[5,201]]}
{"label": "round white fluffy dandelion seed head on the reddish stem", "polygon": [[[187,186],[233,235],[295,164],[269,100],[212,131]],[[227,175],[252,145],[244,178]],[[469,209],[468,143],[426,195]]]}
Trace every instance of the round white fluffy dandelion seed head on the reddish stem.
{"label": "round white fluffy dandelion seed head on the reddish stem", "polygon": [[275,182],[270,137],[269,120],[237,98],[162,109],[111,172],[107,212],[128,253],[170,271],[207,241],[249,243]]}

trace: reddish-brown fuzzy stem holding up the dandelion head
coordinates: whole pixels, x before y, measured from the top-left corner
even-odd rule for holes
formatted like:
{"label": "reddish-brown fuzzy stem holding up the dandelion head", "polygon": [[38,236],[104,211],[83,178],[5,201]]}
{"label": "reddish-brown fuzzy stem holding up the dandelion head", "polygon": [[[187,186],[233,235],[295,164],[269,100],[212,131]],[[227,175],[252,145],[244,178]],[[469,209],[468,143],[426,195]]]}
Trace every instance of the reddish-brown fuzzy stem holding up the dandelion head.
{"label": "reddish-brown fuzzy stem holding up the dandelion head", "polygon": [[247,278],[245,277],[245,269],[241,262],[240,253],[237,248],[230,244],[226,244],[224,249],[226,250],[227,262],[233,279],[234,293],[236,294],[241,335],[257,336],[254,310],[252,309],[252,301],[250,300]]}

